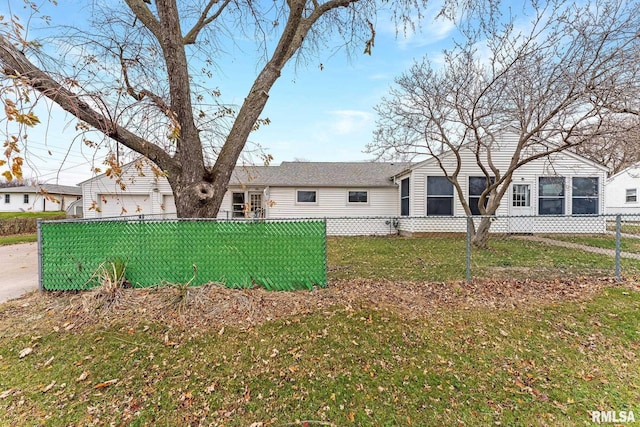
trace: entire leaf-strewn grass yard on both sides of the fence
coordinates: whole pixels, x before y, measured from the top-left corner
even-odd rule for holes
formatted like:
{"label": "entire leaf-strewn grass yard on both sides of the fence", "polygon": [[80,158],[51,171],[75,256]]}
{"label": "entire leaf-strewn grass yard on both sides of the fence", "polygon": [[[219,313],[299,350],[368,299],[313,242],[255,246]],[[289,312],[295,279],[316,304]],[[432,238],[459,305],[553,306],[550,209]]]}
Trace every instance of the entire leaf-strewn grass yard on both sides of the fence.
{"label": "entire leaf-strewn grass yard on both sides of the fence", "polygon": [[473,268],[494,279],[470,285],[463,239],[345,237],[312,292],[2,304],[0,425],[582,426],[640,412],[637,285],[569,279],[609,269],[601,255],[490,246]]}

